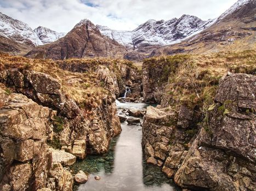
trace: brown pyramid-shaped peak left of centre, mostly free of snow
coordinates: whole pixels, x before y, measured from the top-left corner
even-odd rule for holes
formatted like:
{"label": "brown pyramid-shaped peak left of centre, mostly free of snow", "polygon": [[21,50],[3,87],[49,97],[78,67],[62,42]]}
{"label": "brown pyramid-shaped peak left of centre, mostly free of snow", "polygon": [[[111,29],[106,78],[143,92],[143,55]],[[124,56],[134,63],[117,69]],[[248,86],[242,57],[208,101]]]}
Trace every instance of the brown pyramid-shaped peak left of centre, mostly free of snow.
{"label": "brown pyramid-shaped peak left of centre, mostly free of snow", "polygon": [[126,47],[102,35],[89,20],[79,22],[65,37],[51,44],[38,46],[29,53],[31,58],[122,57]]}

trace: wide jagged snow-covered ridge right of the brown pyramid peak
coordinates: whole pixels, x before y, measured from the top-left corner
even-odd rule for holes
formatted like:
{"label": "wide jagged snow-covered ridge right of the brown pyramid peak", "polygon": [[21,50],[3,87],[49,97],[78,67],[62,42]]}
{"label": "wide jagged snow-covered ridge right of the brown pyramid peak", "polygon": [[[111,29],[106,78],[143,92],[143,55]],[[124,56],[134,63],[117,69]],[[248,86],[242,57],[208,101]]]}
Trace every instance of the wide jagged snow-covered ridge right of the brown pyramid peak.
{"label": "wide jagged snow-covered ridge right of the brown pyramid peak", "polygon": [[128,48],[136,48],[179,43],[181,40],[208,28],[214,21],[202,21],[196,16],[183,15],[180,19],[174,18],[168,21],[149,20],[133,31],[116,31],[99,25],[97,27],[102,34],[118,43]]}

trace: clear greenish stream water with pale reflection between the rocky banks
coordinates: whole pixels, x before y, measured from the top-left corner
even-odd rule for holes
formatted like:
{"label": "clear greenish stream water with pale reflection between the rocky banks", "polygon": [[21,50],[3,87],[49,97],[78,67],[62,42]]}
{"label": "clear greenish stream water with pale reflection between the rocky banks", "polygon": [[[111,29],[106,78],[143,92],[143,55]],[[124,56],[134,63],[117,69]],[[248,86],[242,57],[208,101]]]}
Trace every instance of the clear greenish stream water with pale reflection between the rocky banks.
{"label": "clear greenish stream water with pale reflection between the rocky banks", "polygon": [[[118,110],[139,110],[146,106],[117,101]],[[122,133],[113,138],[109,152],[102,156],[89,155],[86,160],[78,161],[72,166],[75,172],[83,170],[89,173],[87,183],[76,185],[75,190],[179,190],[160,168],[145,163],[141,149],[141,126],[128,126],[127,122],[121,126]],[[96,175],[100,176],[99,181],[94,179]]]}

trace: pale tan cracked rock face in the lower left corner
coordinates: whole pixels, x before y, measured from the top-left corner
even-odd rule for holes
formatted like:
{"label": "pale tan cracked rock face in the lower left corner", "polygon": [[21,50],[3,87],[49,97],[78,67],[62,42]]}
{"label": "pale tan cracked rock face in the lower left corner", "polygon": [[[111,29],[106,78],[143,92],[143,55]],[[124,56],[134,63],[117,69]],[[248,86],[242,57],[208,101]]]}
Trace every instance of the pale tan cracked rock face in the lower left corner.
{"label": "pale tan cracked rock face in the lower left corner", "polygon": [[0,88],[1,190],[46,187],[52,163],[46,141],[52,137],[50,121],[54,115],[56,112],[26,96]]}

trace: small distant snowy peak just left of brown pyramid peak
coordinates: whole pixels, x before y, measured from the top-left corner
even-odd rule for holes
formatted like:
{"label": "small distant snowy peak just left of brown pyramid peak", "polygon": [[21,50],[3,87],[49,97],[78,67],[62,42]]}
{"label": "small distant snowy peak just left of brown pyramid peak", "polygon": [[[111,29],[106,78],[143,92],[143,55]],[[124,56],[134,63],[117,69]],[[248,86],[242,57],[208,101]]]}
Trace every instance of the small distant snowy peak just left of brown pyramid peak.
{"label": "small distant snowy peak just left of brown pyramid peak", "polygon": [[35,28],[34,32],[37,34],[38,38],[42,41],[43,44],[52,43],[53,41],[56,41],[66,35],[66,33],[58,33],[42,26]]}

